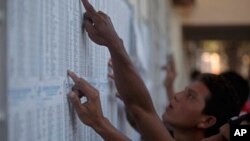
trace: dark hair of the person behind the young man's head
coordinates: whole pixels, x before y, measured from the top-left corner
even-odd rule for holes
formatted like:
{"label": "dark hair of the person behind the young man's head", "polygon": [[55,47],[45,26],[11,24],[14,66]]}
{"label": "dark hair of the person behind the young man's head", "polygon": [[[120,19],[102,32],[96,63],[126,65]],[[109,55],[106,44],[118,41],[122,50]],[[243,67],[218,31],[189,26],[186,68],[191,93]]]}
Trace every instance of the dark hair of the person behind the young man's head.
{"label": "dark hair of the person behind the young man's head", "polygon": [[239,95],[239,98],[240,98],[240,103],[239,103],[239,113],[240,113],[240,110],[246,103],[248,95],[249,95],[248,81],[245,80],[238,73],[233,72],[233,71],[227,71],[227,72],[222,73],[221,75],[222,77],[227,79],[237,91],[237,94]]}

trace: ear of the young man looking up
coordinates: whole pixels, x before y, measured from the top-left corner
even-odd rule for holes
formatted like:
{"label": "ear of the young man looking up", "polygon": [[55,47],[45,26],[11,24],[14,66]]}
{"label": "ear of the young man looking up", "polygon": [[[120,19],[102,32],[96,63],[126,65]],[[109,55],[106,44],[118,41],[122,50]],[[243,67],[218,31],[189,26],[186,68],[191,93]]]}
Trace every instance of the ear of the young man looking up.
{"label": "ear of the young man looking up", "polygon": [[198,128],[207,129],[212,127],[216,123],[216,117],[214,116],[203,116],[197,125]]}

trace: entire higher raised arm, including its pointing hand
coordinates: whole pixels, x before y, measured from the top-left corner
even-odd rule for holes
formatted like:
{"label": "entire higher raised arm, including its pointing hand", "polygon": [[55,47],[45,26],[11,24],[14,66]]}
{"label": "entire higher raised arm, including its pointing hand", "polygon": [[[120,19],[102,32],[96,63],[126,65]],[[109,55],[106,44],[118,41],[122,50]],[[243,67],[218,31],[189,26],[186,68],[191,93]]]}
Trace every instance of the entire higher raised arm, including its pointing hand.
{"label": "entire higher raised arm, including its pointing hand", "polygon": [[110,18],[96,12],[87,0],[82,0],[86,9],[84,27],[89,37],[97,44],[108,48],[117,90],[126,108],[132,113],[143,137],[149,141],[169,141],[171,136],[158,117],[149,92],[138,75],[117,35]]}

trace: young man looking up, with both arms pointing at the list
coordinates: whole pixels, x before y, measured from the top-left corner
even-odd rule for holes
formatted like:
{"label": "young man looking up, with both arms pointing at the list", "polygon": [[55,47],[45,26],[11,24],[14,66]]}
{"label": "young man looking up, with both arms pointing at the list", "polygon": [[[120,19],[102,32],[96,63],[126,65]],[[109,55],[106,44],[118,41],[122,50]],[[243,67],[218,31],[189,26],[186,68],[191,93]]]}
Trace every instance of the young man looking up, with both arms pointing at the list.
{"label": "young man looking up, with both arms pointing at the list", "polygon": [[[103,12],[96,12],[87,0],[82,0],[82,2],[87,11],[84,16],[84,27],[92,41],[108,48],[117,90],[126,109],[134,118],[139,132],[148,141],[173,141],[174,139],[157,115],[149,92],[129,59],[110,18]],[[73,72],[69,72],[69,76],[75,82],[69,99],[80,120],[92,127],[106,141],[129,140],[103,117],[98,91]],[[209,83],[210,81],[212,83]],[[169,124],[176,129],[175,140],[201,140],[209,134],[205,132],[208,128],[217,128],[221,122],[231,117],[229,109],[233,110],[230,105],[234,102],[232,92],[233,90],[224,79],[207,74],[200,81],[196,81],[184,91],[176,94],[166,111],[168,115],[164,114]],[[81,104],[79,98],[81,96],[87,98],[86,103]],[[222,102],[223,104],[220,105]],[[223,107],[225,111],[220,111]],[[223,116],[218,116],[218,113],[223,113]]]}

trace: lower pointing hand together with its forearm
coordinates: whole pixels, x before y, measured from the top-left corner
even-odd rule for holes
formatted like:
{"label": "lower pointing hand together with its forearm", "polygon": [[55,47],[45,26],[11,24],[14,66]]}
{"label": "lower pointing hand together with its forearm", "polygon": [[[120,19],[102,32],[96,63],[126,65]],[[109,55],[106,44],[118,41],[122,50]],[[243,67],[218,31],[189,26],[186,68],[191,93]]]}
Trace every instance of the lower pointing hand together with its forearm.
{"label": "lower pointing hand together with its forearm", "polygon": [[[80,120],[92,127],[105,141],[130,141],[103,116],[99,92],[74,72],[68,71],[68,75],[75,82],[69,99]],[[80,100],[82,96],[87,98],[83,104]]]}

